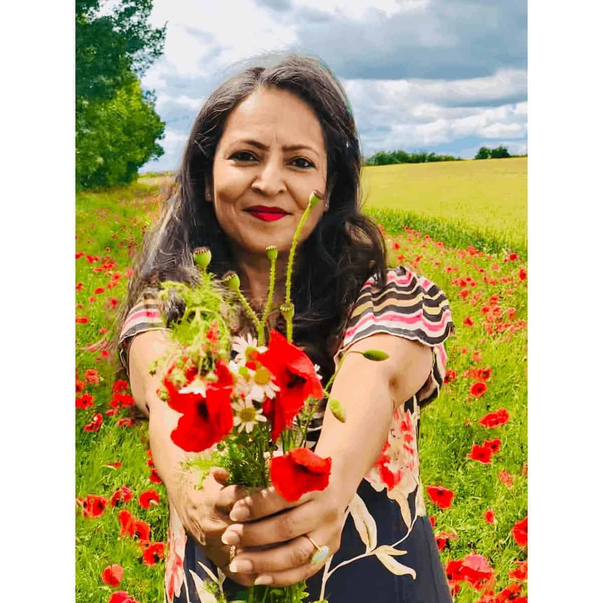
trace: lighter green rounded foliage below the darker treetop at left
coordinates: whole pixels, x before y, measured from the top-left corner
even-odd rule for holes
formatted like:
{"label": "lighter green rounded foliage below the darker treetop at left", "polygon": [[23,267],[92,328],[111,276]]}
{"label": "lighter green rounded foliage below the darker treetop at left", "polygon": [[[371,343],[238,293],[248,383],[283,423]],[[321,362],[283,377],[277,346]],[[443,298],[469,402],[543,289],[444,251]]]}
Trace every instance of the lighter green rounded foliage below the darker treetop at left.
{"label": "lighter green rounded foliage below the darker treetop at left", "polygon": [[162,156],[156,140],[165,122],[154,110],[154,95],[138,80],[109,100],[78,99],[75,113],[75,178],[78,189],[127,184],[138,168]]}

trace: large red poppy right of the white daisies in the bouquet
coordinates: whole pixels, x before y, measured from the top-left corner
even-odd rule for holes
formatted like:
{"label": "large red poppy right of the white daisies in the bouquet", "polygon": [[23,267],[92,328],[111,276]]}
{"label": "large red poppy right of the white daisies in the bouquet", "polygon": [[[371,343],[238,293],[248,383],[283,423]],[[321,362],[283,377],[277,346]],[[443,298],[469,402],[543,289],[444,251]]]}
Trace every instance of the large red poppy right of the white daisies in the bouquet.
{"label": "large red poppy right of the white daisies in the bouquet", "polygon": [[323,387],[314,362],[277,330],[270,332],[268,350],[257,359],[274,375],[280,388],[273,400],[264,403],[264,414],[271,421],[271,438],[276,442],[283,429],[291,426],[309,396],[317,400],[323,398]]}

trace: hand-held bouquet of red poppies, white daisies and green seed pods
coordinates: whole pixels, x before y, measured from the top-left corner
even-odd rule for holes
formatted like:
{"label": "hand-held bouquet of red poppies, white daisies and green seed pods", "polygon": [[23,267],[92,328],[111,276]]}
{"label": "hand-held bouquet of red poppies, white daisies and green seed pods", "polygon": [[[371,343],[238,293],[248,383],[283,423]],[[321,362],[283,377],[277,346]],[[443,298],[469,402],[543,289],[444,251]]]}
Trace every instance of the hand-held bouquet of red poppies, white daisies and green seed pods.
{"label": "hand-held bouquet of red poppies, white daisies and green seed pods", "polygon": [[[345,356],[323,385],[319,367],[292,343],[295,247],[311,207],[319,200],[317,193],[312,193],[289,251],[285,302],[280,306],[286,336],[272,330],[265,341],[274,294],[275,247],[267,248],[270,288],[262,317],[242,294],[236,273],[227,273],[219,280],[207,271],[211,260],[207,248],[195,251],[199,274],[194,286],[162,283],[160,298],[168,303],[177,300],[184,312],[171,324],[173,348],[151,372],[160,371],[160,397],[182,414],[171,433],[172,441],[187,452],[203,453],[192,463],[200,472],[200,483],[210,467],[220,466],[229,472],[231,484],[273,485],[290,502],[329,484],[331,459],[321,458],[306,443],[309,425],[323,399],[327,399],[333,415],[345,421],[343,406],[329,394]],[[239,304],[251,318],[257,338],[250,334],[246,338],[233,336],[233,317]],[[372,360],[387,358],[379,350],[362,354]],[[320,563],[328,552],[327,547],[319,548],[314,561]],[[222,581],[218,579],[213,585],[212,594],[218,603],[227,603]],[[300,582],[288,587],[251,586],[239,593],[237,601],[301,603],[307,596],[305,582]]]}

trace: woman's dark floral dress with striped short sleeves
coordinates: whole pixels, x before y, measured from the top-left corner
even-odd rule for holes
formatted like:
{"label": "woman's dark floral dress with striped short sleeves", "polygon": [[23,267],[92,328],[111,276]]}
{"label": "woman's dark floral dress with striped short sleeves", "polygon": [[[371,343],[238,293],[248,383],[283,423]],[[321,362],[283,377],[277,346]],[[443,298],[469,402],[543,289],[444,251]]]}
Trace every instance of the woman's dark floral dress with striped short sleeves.
{"label": "woman's dark floral dress with striped short sleeves", "polygon": [[[360,339],[389,333],[431,347],[432,369],[420,390],[394,413],[381,455],[347,508],[339,550],[307,581],[308,600],[450,603],[426,514],[417,440],[421,408],[438,396],[443,384],[444,340],[454,332],[452,314],[443,291],[405,267],[388,270],[382,289],[374,285],[375,280],[371,277],[361,289],[336,359]],[[161,328],[159,308],[153,303],[147,300],[134,306],[121,341],[142,330]],[[308,446],[314,447],[320,425],[318,416]],[[242,590],[206,557],[170,508],[165,601],[215,603],[215,586],[208,589],[208,582],[216,583],[229,601]]]}

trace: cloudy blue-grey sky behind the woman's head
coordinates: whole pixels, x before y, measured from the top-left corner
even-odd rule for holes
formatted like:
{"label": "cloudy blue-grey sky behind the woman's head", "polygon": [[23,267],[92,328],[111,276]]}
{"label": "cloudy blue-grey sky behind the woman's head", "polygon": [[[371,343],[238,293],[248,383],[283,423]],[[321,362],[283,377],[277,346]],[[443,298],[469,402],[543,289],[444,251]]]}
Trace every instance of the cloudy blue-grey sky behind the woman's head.
{"label": "cloudy blue-grey sky behind the woman's head", "polygon": [[198,110],[254,54],[317,55],[342,81],[362,153],[527,153],[526,0],[154,0],[165,53],[145,74],[175,169]]}

